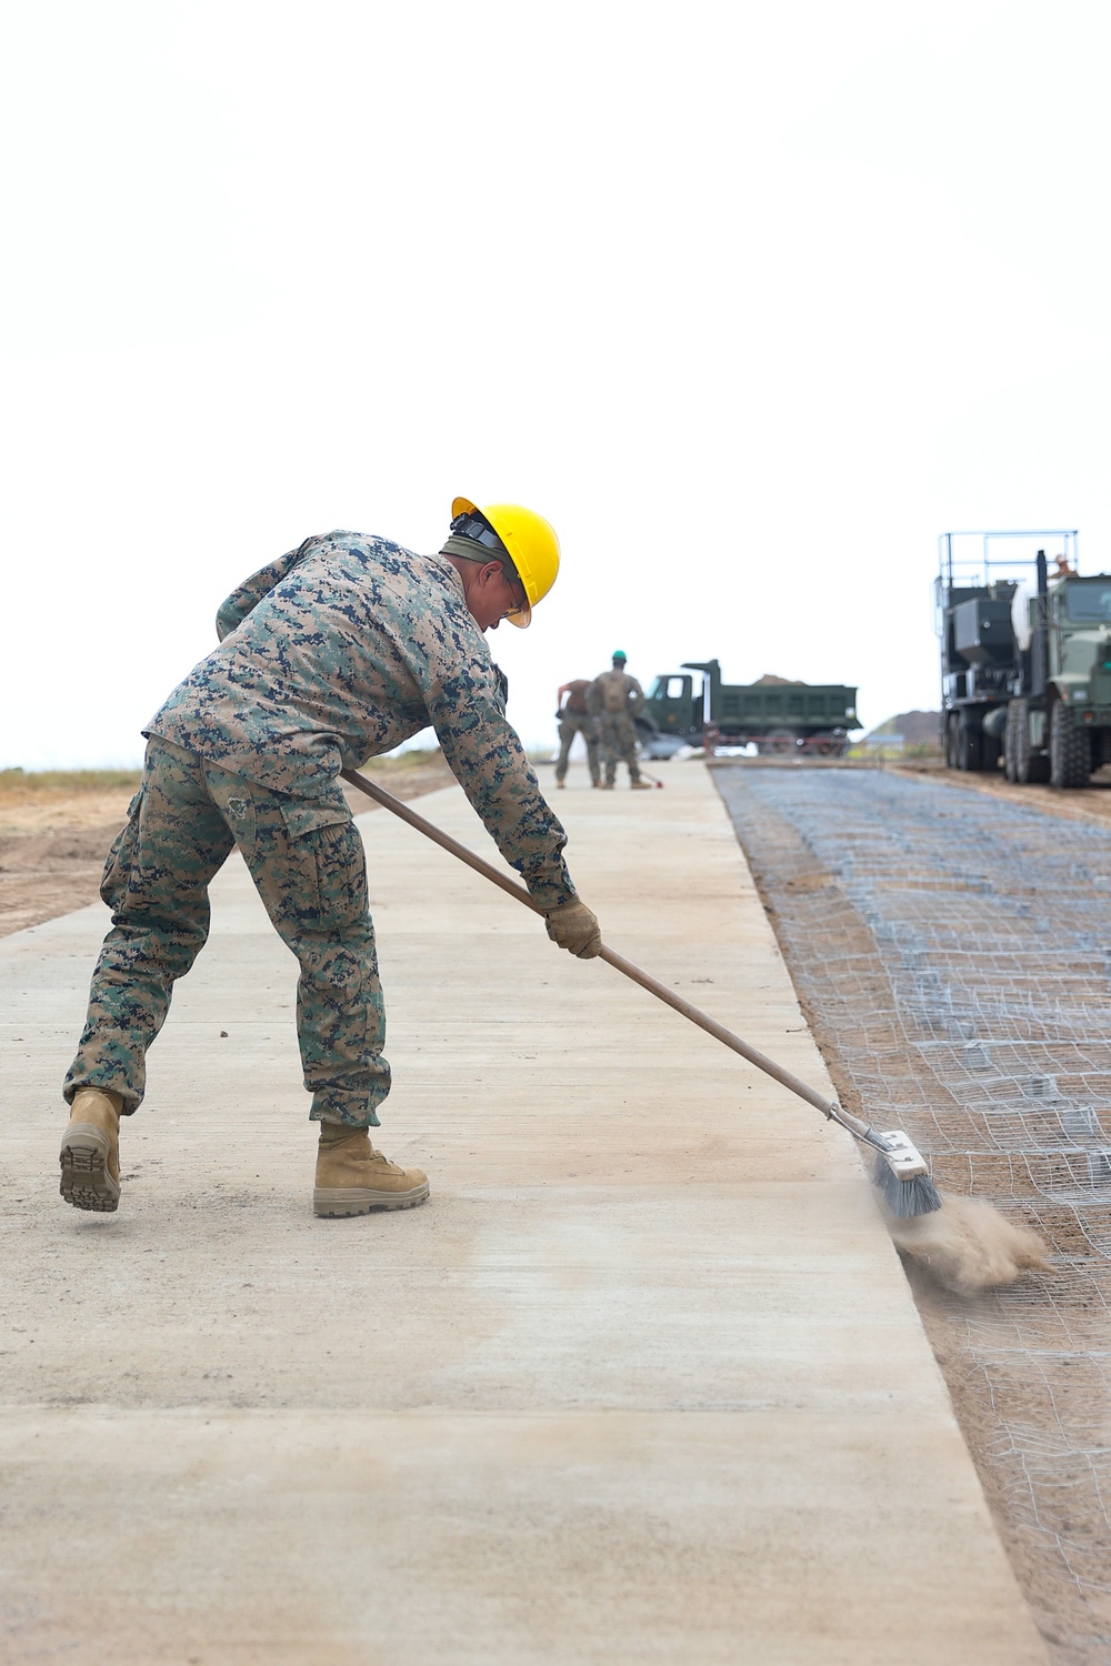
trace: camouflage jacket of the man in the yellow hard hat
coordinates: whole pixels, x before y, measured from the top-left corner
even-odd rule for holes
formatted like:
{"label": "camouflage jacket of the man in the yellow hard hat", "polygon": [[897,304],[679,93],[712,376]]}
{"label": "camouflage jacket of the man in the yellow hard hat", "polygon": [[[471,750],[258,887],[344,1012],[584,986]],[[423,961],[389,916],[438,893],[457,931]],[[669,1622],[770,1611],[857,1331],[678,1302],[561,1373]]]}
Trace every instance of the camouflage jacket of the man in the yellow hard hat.
{"label": "camouflage jacket of the man in the yellow hard hat", "polygon": [[340,768],[431,726],[505,860],[545,908],[575,898],[566,833],[505,715],[505,678],[440,555],[386,538],[306,538],[235,590],[220,646],[143,730],[278,793],[335,791]]}

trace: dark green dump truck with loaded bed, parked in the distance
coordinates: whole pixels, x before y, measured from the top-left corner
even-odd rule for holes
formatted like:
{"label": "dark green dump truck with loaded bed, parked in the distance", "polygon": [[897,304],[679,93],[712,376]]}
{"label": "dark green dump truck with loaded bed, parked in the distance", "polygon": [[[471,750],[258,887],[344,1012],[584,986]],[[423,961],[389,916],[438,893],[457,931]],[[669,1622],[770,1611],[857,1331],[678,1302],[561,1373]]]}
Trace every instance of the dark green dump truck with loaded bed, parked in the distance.
{"label": "dark green dump truck with loaded bed, parked in the distance", "polygon": [[839,758],[848,751],[848,731],[858,726],[856,690],[783,676],[723,683],[716,660],[685,660],[680,671],[655,680],[636,721],[653,758],[683,745],[713,751],[750,741],[761,755]]}

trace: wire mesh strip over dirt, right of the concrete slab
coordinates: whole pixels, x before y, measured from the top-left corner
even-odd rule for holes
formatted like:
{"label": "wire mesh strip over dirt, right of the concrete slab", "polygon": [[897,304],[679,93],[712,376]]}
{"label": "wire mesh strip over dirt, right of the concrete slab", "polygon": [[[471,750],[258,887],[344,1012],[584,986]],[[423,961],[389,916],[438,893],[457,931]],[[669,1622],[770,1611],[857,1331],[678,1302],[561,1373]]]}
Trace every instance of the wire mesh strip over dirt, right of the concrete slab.
{"label": "wire mesh strip over dirt, right of the concrete slab", "polygon": [[1054,1659],[1111,1661],[1111,836],[881,770],[715,780],[849,1108],[1053,1251],[914,1284]]}

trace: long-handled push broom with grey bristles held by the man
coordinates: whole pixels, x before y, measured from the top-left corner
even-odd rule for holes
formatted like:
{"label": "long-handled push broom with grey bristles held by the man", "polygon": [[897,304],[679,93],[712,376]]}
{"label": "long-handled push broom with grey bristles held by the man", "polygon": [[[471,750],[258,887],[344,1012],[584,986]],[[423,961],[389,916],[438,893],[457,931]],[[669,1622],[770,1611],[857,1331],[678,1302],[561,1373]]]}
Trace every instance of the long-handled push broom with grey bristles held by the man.
{"label": "long-handled push broom with grey bristles held by the man", "polygon": [[[451,838],[451,835],[445,833],[443,828],[435,826],[431,821],[426,821],[425,816],[410,810],[410,806],[403,805],[400,798],[388,793],[385,786],[378,786],[376,781],[360,775],[358,770],[343,770],[341,775],[345,781],[350,781],[351,786],[358,786],[360,793],[366,793],[366,796],[373,798],[375,803],[383,806],[383,810],[391,810],[395,816],[400,816],[401,821],[408,821],[411,828],[416,828],[418,833],[430,838],[433,845],[440,845],[441,850],[458,856],[458,860],[465,861],[468,868],[475,870],[475,873],[485,875],[493,885],[498,885],[503,891],[508,891],[510,896],[515,896],[518,903],[525,903],[525,906],[531,908],[535,915],[543,916],[545,910],[540,903],[533,901],[523,885],[510,880],[508,875],[500,873],[491,863],[483,861],[481,856],[476,856],[473,850],[466,848],[466,845]],[[698,1006],[685,1001],[683,996],[676,995],[675,990],[670,990],[666,983],[660,983],[650,973],[641,971],[641,968],[635,966],[631,960],[618,955],[616,950],[608,948],[605,943],[601,946],[600,958],[626,978],[631,978],[633,983],[638,983],[641,990],[648,990],[648,993],[655,995],[656,1000],[665,1001],[666,1006],[671,1006],[683,1018],[690,1018],[690,1021],[698,1025],[700,1030],[705,1030],[706,1035],[711,1035],[715,1040],[723,1041],[728,1048],[733,1048],[735,1053],[740,1053],[741,1058],[748,1060],[750,1065],[755,1065],[756,1070],[763,1070],[766,1076],[773,1076],[775,1081],[781,1083],[791,1093],[796,1093],[800,1100],[806,1100],[808,1105],[813,1105],[815,1110],[821,1111],[830,1121],[839,1123],[839,1126],[853,1135],[854,1140],[859,1140],[861,1145],[869,1146],[876,1153],[871,1176],[873,1186],[879,1190],[883,1201],[894,1216],[906,1220],[914,1215],[931,1215],[934,1210],[941,1208],[941,1196],[929,1178],[929,1171],[926,1170],[921,1153],[901,1130],[896,1128],[888,1133],[879,1133],[876,1128],[871,1128],[868,1123],[861,1121],[859,1116],[853,1116],[849,1111],[843,1110],[836,1100],[826,1100],[825,1095],[808,1086],[793,1071],[785,1070],[783,1065],[776,1065],[773,1058],[768,1058],[766,1053],[750,1046],[748,1041],[741,1041],[741,1038],[735,1036],[731,1030],[720,1025],[716,1018],[711,1018]]]}

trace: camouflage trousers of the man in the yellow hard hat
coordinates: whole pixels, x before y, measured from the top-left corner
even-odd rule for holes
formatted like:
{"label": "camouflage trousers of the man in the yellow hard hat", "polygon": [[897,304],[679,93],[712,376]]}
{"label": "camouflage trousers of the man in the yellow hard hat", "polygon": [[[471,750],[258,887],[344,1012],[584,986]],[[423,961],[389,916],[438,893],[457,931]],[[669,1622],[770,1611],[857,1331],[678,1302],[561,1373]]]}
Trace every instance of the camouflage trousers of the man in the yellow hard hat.
{"label": "camouflage trousers of the man in the yellow hard hat", "polygon": [[281,941],[300,963],[296,1036],[310,1120],[378,1126],[390,1091],[385,1005],[366,860],[341,791],[275,793],[152,740],[127,826],[108,851],[100,895],[112,908],[77,1058],[65,1078],[110,1088],[135,1111],[147,1050],[178,978],[208,936],[208,885],[238,846]]}

